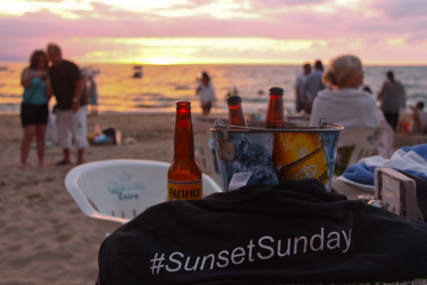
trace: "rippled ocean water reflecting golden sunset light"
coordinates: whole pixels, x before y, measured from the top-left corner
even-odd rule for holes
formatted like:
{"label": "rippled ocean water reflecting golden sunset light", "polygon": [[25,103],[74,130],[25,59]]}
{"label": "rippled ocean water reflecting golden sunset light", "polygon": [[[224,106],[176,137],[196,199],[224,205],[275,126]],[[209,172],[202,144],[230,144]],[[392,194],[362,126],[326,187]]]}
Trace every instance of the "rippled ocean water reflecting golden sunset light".
{"label": "rippled ocean water reflecting golden sunset light", "polygon": [[[18,114],[21,103],[21,71],[28,63],[0,62],[0,114]],[[243,100],[245,113],[263,112],[267,108],[268,89],[285,90],[288,113],[295,110],[295,78],[300,66],[279,65],[174,65],[143,66],[142,78],[133,78],[132,64],[79,64],[80,68],[99,71],[96,76],[100,113],[174,112],[177,100],[191,100],[193,112],[199,112],[194,95],[196,78],[202,71],[211,75],[217,102],[212,113],[226,113],[226,95],[233,87]],[[364,66],[364,85],[374,95],[379,92],[386,71],[394,71],[396,80],[406,88],[407,106],[421,100],[427,104],[427,66]],[[55,98],[50,105],[55,104]]]}

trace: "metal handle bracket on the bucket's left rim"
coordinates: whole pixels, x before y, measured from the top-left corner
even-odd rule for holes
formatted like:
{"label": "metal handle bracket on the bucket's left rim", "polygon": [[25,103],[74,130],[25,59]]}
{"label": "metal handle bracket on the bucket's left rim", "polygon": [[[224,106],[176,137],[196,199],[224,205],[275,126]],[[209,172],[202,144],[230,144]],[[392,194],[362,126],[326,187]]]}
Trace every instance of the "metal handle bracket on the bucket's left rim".
{"label": "metal handle bracket on the bucket's left rim", "polygon": [[233,161],[236,146],[228,140],[228,128],[223,120],[216,120],[214,126],[215,148],[221,160]]}

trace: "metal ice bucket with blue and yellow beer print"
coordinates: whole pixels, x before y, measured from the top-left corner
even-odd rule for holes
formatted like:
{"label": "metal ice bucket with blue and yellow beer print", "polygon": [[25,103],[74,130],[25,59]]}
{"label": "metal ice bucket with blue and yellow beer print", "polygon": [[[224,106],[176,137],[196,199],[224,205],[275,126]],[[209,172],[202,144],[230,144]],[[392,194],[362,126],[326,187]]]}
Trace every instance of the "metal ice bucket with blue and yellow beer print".
{"label": "metal ice bucket with blue and yellow beer print", "polygon": [[279,180],[319,179],[332,186],[337,142],[342,125],[321,120],[319,127],[245,128],[216,120],[216,160],[223,190]]}

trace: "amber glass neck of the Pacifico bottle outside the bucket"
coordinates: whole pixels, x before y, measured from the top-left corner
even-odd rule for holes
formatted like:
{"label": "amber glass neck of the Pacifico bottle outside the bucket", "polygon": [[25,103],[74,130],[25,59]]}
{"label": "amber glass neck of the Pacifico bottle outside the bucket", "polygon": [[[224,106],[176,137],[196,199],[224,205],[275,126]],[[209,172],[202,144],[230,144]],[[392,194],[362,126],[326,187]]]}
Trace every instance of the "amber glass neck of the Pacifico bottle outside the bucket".
{"label": "amber glass neck of the Pacifico bottle outside the bucket", "polygon": [[189,107],[176,108],[174,159],[194,160],[193,125]]}

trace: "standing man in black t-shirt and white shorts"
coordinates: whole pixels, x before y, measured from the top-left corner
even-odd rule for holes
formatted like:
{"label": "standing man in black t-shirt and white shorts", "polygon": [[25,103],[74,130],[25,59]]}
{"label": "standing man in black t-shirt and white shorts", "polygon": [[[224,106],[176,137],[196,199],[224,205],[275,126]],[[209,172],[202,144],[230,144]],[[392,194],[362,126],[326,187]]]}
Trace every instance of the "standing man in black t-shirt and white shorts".
{"label": "standing man in black t-shirt and white shorts", "polygon": [[56,123],[58,142],[63,148],[63,160],[56,165],[68,165],[71,140],[78,148],[77,163],[84,163],[84,149],[88,146],[86,109],[80,105],[83,95],[83,80],[78,66],[62,58],[60,47],[54,43],[47,46],[48,58],[52,63],[49,69],[53,94],[56,97]]}

